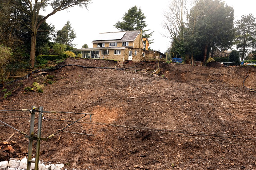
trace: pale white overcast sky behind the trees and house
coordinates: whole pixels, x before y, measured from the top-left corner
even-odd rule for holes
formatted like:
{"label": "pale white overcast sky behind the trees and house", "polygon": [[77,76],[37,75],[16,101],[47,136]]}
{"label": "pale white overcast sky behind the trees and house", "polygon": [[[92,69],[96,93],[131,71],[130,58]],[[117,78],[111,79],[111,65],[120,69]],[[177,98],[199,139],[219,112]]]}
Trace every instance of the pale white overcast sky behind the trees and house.
{"label": "pale white overcast sky behind the trees and house", "polygon": [[[234,7],[235,20],[240,19],[244,14],[252,13],[256,16],[255,0],[226,0],[225,2]],[[98,33],[118,31],[113,25],[122,20],[129,8],[137,5],[141,7],[142,12],[147,17],[145,19],[146,24],[148,24],[147,29],[154,31],[151,37],[154,39],[154,43],[150,45],[151,49],[160,50],[163,53],[170,46],[171,41],[162,36],[168,34],[162,27],[163,11],[167,10],[168,3],[169,0],[92,0],[92,4],[87,9],[77,6],[71,7],[66,11],[59,11],[50,16],[46,22],[53,24],[55,29],[61,29],[69,20],[71,27],[77,33],[74,44],[78,45],[75,48],[82,48],[85,43],[88,44],[89,48],[92,48],[91,42]],[[47,8],[42,15],[47,15],[51,10],[50,7]]]}

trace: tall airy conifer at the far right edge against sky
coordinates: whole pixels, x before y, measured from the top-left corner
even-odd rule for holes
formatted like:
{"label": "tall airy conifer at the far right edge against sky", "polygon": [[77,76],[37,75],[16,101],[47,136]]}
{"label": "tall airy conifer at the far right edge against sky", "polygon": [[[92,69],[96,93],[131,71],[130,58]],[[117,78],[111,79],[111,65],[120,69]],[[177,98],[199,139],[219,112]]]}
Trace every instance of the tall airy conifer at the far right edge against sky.
{"label": "tall airy conifer at the far right edge against sky", "polygon": [[236,21],[237,29],[237,49],[241,55],[241,60],[244,59],[245,54],[250,52],[250,48],[254,47],[256,37],[256,18],[253,14],[243,15],[240,20]]}

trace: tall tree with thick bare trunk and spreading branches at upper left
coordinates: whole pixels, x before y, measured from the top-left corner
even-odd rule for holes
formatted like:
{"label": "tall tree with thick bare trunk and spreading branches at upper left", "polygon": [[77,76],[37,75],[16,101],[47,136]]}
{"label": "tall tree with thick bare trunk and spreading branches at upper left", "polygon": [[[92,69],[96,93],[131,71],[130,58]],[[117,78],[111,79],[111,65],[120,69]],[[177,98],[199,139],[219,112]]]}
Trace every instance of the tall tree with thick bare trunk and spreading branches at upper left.
{"label": "tall tree with thick bare trunk and spreading branches at upper left", "polygon": [[[30,65],[34,67],[35,63],[35,46],[37,32],[49,32],[49,30],[39,30],[40,25],[51,15],[58,11],[65,10],[69,7],[79,6],[88,7],[91,0],[3,0],[6,3],[11,3],[17,9],[17,17],[12,17],[12,20],[18,20],[25,25],[31,33],[31,49],[30,49]],[[44,17],[39,16],[39,11],[46,7],[51,7],[53,10]],[[26,20],[24,19],[26,18]]]}

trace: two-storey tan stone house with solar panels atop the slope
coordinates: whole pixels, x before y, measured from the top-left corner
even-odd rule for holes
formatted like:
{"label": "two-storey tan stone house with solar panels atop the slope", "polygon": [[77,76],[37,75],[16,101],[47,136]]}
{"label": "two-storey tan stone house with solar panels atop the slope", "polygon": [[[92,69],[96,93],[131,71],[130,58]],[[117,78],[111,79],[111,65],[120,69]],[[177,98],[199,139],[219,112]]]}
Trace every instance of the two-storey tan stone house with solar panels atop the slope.
{"label": "two-storey tan stone house with solar panels atop the slope", "polygon": [[[144,39],[145,40],[145,39]],[[82,58],[113,59],[118,61],[143,61],[166,58],[159,51],[148,51],[140,30],[99,33],[93,40],[93,48],[75,49]]]}

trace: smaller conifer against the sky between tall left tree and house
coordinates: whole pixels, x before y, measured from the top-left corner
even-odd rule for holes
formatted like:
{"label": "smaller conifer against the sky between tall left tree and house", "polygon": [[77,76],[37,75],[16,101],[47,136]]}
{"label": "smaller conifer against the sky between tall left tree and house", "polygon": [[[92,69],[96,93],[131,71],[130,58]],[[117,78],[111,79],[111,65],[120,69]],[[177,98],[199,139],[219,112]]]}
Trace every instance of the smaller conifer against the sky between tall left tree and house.
{"label": "smaller conifer against the sky between tall left tree and house", "polygon": [[55,38],[55,43],[65,44],[68,46],[75,46],[73,40],[77,37],[74,29],[72,29],[69,21],[62,27],[61,30],[57,31],[58,35]]}

